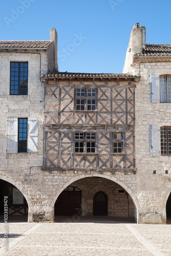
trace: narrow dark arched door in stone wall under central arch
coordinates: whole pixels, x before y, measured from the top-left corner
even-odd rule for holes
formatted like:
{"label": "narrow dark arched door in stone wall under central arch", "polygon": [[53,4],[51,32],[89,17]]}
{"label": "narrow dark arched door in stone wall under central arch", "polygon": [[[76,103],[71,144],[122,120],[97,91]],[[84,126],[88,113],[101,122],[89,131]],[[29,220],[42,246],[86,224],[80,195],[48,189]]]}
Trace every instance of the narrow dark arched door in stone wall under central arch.
{"label": "narrow dark arched door in stone wall under central arch", "polygon": [[108,196],[103,191],[99,191],[94,195],[93,215],[108,216]]}

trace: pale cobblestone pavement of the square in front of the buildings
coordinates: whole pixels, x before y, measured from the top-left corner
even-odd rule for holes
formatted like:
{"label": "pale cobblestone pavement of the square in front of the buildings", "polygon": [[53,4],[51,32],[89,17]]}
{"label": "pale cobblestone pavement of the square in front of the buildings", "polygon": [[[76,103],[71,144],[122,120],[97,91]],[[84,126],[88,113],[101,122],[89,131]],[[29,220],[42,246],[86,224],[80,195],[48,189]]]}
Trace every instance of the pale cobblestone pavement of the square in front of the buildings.
{"label": "pale cobblestone pavement of the square in front of the buildings", "polygon": [[170,225],[58,222],[0,223],[0,255],[4,256],[151,256],[171,255]]}

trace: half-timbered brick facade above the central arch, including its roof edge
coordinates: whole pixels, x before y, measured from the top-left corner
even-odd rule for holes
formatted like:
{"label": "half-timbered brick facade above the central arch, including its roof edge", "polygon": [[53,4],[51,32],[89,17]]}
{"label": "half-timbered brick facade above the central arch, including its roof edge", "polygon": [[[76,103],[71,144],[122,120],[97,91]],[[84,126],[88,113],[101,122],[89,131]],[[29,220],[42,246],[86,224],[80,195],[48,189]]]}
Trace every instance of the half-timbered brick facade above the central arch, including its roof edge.
{"label": "half-timbered brick facade above the central arch, including its roof edge", "polygon": [[45,76],[44,170],[136,172],[136,76]]}

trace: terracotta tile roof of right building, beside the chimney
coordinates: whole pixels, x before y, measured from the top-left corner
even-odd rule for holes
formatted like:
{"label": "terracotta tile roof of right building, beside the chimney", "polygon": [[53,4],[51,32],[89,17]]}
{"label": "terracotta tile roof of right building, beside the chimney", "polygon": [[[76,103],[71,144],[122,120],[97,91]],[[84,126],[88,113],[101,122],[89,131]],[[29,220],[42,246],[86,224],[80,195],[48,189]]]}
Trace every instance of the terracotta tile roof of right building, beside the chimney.
{"label": "terracotta tile roof of right building, beside the chimney", "polygon": [[171,45],[152,45],[145,44],[141,54],[137,56],[171,56]]}

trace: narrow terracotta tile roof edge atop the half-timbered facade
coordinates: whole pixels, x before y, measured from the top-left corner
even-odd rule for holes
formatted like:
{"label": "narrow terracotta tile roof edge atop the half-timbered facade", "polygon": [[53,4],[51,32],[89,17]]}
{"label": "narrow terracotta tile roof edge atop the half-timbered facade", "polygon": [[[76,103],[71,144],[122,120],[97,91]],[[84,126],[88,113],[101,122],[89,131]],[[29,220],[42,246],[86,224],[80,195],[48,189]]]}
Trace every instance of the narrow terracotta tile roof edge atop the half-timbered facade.
{"label": "narrow terracotta tile roof edge atop the half-timbered facade", "polygon": [[69,72],[56,72],[52,74],[41,75],[41,77],[50,78],[50,77],[63,77],[63,78],[74,78],[74,77],[100,77],[100,78],[109,78],[109,77],[120,77],[120,78],[131,78],[139,77],[130,74],[113,74],[113,73],[69,73]]}

